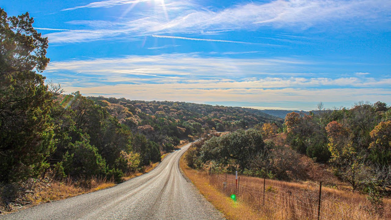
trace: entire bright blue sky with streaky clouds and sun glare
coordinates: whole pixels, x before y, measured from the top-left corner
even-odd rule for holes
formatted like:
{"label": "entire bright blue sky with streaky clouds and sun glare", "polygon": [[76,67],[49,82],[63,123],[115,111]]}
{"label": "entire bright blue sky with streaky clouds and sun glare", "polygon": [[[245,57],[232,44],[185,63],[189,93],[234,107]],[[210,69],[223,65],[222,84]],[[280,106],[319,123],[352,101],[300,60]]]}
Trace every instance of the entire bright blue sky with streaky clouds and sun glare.
{"label": "entire bright blue sky with streaky clouds and sun glare", "polygon": [[389,0],[0,0],[67,93],[259,109],[391,104]]}

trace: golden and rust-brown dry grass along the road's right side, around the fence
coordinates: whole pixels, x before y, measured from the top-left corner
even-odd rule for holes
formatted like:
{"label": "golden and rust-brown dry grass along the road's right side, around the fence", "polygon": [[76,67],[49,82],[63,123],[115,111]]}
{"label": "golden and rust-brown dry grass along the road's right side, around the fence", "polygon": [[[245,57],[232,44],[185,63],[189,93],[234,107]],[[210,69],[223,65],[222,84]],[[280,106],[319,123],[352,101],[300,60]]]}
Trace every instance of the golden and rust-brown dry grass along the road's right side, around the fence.
{"label": "golden and rust-brown dry grass along the road's right side, around the fence", "polygon": [[[240,176],[213,174],[188,168],[181,159],[181,168],[201,193],[221,210],[228,219],[315,220],[319,202],[319,185],[264,180]],[[224,188],[223,182],[227,182]],[[227,199],[237,195],[238,204]],[[391,200],[384,198],[382,209],[372,206],[367,195],[335,188],[322,188],[320,219],[323,220],[386,220],[391,219]],[[251,210],[251,211],[248,211]],[[251,213],[251,216],[247,213]]]}

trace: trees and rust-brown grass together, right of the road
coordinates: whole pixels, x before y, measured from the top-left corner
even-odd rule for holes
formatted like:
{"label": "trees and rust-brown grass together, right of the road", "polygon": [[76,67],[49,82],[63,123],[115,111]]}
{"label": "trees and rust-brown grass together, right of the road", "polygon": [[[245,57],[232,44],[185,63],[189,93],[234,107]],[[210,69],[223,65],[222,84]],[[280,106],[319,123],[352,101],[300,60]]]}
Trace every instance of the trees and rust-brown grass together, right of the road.
{"label": "trees and rust-brown grass together, right of the road", "polygon": [[[327,209],[322,219],[388,219],[391,108],[382,102],[332,110],[319,103],[318,108],[316,114],[287,114],[282,129],[265,123],[192,144],[184,155],[197,173],[190,179],[226,197],[238,194],[237,201],[265,219],[316,219],[320,181],[325,193],[321,207]],[[242,177],[238,188],[235,171]],[[263,178],[266,208],[259,200]]]}

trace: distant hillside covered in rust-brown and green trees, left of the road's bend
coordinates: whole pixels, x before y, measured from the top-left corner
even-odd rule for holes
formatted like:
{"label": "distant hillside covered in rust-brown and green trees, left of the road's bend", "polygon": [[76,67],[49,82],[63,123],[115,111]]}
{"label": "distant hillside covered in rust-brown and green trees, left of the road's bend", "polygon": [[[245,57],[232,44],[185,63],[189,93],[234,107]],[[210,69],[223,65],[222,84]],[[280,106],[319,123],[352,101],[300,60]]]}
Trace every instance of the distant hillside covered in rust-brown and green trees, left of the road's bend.
{"label": "distant hillside covered in rust-brown and green trees, left of the road's bend", "polygon": [[166,135],[188,137],[208,130],[232,131],[263,123],[281,126],[283,123],[278,117],[249,108],[103,96],[87,98],[105,107],[120,123],[147,135],[150,139]]}

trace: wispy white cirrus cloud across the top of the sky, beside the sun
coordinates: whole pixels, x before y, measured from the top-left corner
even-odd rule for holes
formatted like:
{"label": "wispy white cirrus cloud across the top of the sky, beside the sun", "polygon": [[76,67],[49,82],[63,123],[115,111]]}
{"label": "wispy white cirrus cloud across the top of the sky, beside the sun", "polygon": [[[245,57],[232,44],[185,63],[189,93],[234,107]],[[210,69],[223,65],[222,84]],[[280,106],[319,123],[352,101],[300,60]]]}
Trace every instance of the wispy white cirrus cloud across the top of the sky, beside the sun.
{"label": "wispy white cirrus cloud across the top of the sky, beside the sun", "polygon": [[[149,0],[106,0],[65,10],[79,8],[113,7],[124,4],[146,4]],[[360,27],[363,24],[389,23],[391,20],[391,1],[384,0],[272,0],[270,2],[251,2],[216,9],[208,5],[194,4],[192,1],[177,1],[140,7],[131,17],[121,16],[120,21],[78,21],[89,23],[91,31],[102,32],[97,37],[91,33],[78,34],[78,41],[107,39],[112,36],[145,36],[176,34],[220,34],[226,31],[255,31],[262,27],[290,29],[296,32],[310,27],[318,29],[339,25]],[[105,25],[96,25],[105,23]],[[366,26],[371,27],[371,26]],[[364,27],[365,28],[365,27]],[[64,32],[64,42],[71,42],[75,32]],[[49,40],[57,43],[62,38],[54,33],[47,34]],[[224,39],[226,41],[234,41]],[[224,41],[216,41],[224,42]],[[260,43],[260,42],[251,42]],[[293,42],[294,43],[294,42]]]}

